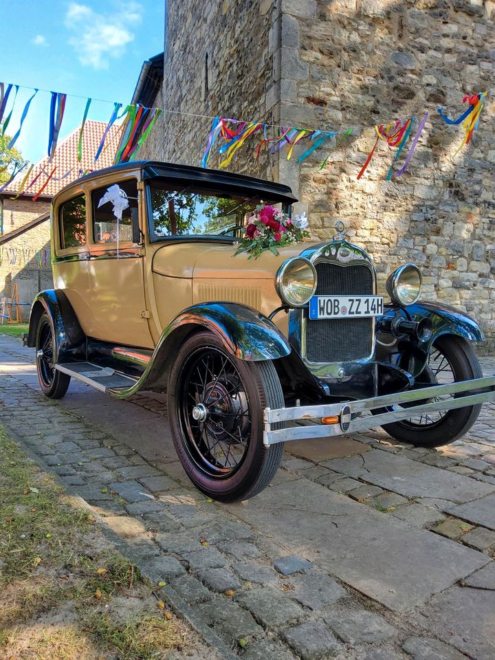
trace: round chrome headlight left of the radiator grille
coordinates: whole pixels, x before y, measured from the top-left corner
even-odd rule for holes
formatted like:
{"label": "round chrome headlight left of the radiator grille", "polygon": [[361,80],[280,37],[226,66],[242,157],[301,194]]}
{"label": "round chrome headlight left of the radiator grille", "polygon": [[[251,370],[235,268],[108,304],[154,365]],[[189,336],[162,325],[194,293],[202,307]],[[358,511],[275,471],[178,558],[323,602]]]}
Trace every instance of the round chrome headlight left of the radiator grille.
{"label": "round chrome headlight left of the radiator grille", "polygon": [[316,291],[316,270],[303,256],[287,259],[276,274],[276,290],[289,307],[303,307]]}

